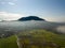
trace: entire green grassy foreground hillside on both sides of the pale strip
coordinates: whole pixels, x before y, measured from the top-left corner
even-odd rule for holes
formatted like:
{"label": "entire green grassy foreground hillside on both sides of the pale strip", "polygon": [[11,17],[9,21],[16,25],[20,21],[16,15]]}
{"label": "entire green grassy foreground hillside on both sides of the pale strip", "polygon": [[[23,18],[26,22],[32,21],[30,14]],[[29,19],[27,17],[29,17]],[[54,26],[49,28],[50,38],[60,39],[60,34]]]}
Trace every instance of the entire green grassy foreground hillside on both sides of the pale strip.
{"label": "entire green grassy foreground hillside on both sides of the pale strip", "polygon": [[[27,31],[26,31],[27,32]],[[50,47],[50,44],[56,44],[56,46],[60,46],[61,48],[65,48],[65,35],[63,34],[55,34],[50,31],[46,30],[34,30],[29,32],[22,32],[18,34],[18,36],[22,36],[22,39],[20,39],[20,43],[25,45],[23,48],[27,48],[28,44],[31,42],[35,44],[29,45],[28,48],[43,48],[41,45],[46,42],[47,47],[44,48],[57,48],[57,47]],[[24,38],[25,37],[25,38]],[[24,41],[23,41],[24,39]],[[37,44],[36,44],[37,43]],[[18,48],[16,44],[16,37],[10,36],[8,38],[0,38],[0,48]]]}

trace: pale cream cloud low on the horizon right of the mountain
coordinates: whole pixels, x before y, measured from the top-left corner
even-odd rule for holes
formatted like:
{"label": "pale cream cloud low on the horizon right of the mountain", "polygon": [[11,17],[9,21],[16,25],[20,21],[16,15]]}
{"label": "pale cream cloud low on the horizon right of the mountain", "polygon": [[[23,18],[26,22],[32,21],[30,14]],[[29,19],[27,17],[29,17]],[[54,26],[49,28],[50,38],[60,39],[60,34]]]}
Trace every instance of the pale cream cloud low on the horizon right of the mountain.
{"label": "pale cream cloud low on the horizon right of the mountain", "polygon": [[[43,18],[43,17],[42,17]],[[48,16],[44,17],[48,21],[55,21],[55,22],[65,22],[65,16]]]}

